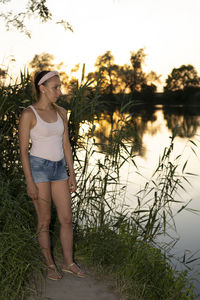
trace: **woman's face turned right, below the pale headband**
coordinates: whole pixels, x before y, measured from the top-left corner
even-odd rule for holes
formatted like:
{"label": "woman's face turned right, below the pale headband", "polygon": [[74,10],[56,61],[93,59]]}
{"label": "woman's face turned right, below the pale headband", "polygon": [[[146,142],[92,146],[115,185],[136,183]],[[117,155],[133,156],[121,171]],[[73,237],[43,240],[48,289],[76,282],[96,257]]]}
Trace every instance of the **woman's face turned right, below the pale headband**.
{"label": "woman's face turned right, below the pale headband", "polygon": [[62,95],[61,92],[61,81],[58,76],[54,76],[43,85],[42,93],[50,102],[56,102]]}

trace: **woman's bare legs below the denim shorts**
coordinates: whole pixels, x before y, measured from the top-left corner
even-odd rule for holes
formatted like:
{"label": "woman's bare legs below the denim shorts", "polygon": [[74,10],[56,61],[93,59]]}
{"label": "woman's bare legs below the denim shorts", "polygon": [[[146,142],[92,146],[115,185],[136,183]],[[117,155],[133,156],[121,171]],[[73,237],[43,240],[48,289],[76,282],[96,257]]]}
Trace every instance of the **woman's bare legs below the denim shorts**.
{"label": "woman's bare legs below the denim shorts", "polygon": [[[38,217],[38,243],[46,264],[54,264],[50,250],[49,225],[51,220],[51,197],[56,206],[58,219],[60,222],[60,241],[63,249],[64,265],[69,266],[73,263],[73,229],[72,229],[72,212],[71,196],[68,183],[66,180],[55,182],[42,182],[37,184],[39,198],[34,201]],[[70,267],[74,273],[80,273],[79,268],[74,264]],[[84,274],[81,271],[81,274]]]}

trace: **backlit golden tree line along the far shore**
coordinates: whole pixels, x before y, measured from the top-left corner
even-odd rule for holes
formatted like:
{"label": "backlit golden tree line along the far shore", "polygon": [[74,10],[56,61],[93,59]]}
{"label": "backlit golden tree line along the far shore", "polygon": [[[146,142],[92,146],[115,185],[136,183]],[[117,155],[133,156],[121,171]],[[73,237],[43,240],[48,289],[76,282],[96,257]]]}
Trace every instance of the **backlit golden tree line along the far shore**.
{"label": "backlit golden tree line along the far shore", "polygon": [[[111,51],[106,51],[97,57],[95,70],[85,75],[85,80],[91,82],[88,92],[98,88],[101,95],[131,95],[133,100],[142,102],[188,102],[200,101],[200,77],[192,65],[182,65],[174,68],[168,75],[164,92],[157,93],[157,86],[160,84],[161,75],[151,71],[145,73],[143,70],[145,62],[145,51],[143,48],[130,53],[130,63],[122,66],[117,65]],[[36,70],[58,69],[66,94],[73,94],[78,84],[76,72],[80,64],[75,65],[70,74],[65,72],[65,64],[53,63],[54,56],[49,53],[36,54],[29,63],[32,72]],[[6,78],[7,71],[0,68],[1,82]],[[130,99],[130,97],[129,97]]]}

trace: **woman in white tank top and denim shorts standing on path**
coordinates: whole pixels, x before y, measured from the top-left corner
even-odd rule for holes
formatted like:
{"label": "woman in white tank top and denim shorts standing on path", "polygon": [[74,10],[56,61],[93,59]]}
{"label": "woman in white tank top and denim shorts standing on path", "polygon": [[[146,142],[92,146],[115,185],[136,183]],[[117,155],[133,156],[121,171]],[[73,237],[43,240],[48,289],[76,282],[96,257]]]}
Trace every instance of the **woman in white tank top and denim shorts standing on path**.
{"label": "woman in white tank top and denim shorts standing on path", "polygon": [[[61,81],[56,71],[42,71],[34,79],[36,103],[26,108],[19,123],[21,163],[26,178],[27,193],[33,200],[37,214],[38,243],[47,265],[47,277],[59,280],[50,250],[49,225],[51,199],[60,222],[63,249],[63,272],[85,277],[72,260],[72,211],[70,192],[76,190],[72,151],[68,137],[66,111],[56,105],[62,95]],[[30,155],[29,139],[32,140]],[[66,173],[65,161],[69,169]]]}

